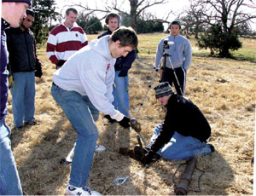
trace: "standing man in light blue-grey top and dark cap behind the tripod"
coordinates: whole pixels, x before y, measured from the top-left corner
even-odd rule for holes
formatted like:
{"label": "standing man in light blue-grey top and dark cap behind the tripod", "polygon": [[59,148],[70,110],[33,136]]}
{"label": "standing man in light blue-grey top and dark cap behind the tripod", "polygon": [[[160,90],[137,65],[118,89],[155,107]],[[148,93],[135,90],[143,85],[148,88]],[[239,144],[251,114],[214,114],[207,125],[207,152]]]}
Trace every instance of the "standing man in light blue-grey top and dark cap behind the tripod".
{"label": "standing man in light blue-grey top and dark cap behind the tripod", "polygon": [[[186,37],[179,34],[181,31],[181,22],[179,20],[172,21],[170,31],[171,35],[164,37],[160,40],[160,43],[158,43],[154,65],[156,70],[162,74],[161,82],[169,82],[171,85],[174,84],[177,95],[185,95],[186,74],[192,59],[191,44]],[[168,40],[168,44],[170,45],[168,47],[169,49],[167,49],[169,56],[166,58],[166,68],[165,71],[163,71],[160,64],[164,55],[165,40]],[[172,65],[169,61],[169,57],[171,58]],[[177,75],[177,79],[172,70],[172,66]],[[180,88],[177,84],[177,80]]]}

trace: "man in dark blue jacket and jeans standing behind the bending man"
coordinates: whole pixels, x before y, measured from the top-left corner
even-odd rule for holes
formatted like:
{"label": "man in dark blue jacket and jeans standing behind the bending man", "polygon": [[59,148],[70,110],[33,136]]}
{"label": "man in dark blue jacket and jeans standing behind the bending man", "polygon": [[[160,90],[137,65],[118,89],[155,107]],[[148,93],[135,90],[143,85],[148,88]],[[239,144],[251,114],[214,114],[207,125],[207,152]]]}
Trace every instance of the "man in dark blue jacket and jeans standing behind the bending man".
{"label": "man in dark blue jacket and jeans standing behind the bending man", "polygon": [[[110,35],[119,28],[120,16],[116,13],[110,13],[106,17],[106,25],[108,30],[103,32],[98,38]],[[113,84],[113,106],[115,109],[124,113],[125,116],[130,117],[130,102],[129,102],[129,69],[136,59],[136,52],[133,49],[128,55],[121,56],[116,59],[114,70],[114,84]]]}

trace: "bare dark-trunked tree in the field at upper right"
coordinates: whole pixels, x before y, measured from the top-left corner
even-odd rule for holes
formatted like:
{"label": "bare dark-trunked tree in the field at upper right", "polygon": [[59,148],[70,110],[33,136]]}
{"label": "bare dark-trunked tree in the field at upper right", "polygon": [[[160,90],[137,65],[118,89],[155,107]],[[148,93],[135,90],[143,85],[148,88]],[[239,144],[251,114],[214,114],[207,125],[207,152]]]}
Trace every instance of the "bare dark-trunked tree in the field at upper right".
{"label": "bare dark-trunked tree in the field at upper right", "polygon": [[216,26],[220,26],[220,33],[218,33],[219,55],[230,57],[230,49],[232,47],[233,49],[241,48],[239,41],[237,41],[238,45],[235,46],[231,44],[230,40],[234,40],[234,36],[237,36],[237,27],[241,26],[241,24],[246,22],[253,23],[253,19],[256,18],[255,0],[197,0],[194,3],[196,5],[195,8],[201,9],[193,10],[190,7],[189,11],[191,12],[189,14],[200,16],[198,19],[204,26],[211,26],[211,29],[216,29]]}

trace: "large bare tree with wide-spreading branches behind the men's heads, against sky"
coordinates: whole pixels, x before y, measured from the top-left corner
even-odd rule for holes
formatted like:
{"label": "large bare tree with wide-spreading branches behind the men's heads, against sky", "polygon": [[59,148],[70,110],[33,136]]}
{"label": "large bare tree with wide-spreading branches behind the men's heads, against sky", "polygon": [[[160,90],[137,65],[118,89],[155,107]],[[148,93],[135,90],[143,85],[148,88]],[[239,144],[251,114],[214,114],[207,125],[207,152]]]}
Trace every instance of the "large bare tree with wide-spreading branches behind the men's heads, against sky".
{"label": "large bare tree with wide-spreading branches behind the men's heads, against sky", "polygon": [[[129,9],[124,8],[125,4],[127,5],[127,3],[129,3],[130,5]],[[72,3],[72,6],[78,6],[83,9],[84,12],[96,14],[96,16],[101,14],[102,18],[100,18],[100,20],[105,18],[106,14],[114,10],[118,12],[122,17],[129,18],[129,25],[136,29],[137,20],[139,19],[139,17],[143,17],[144,15],[147,15],[147,20],[168,23],[168,18],[172,13],[172,10],[166,14],[166,17],[164,19],[157,19],[153,14],[147,13],[147,9],[163,3],[168,3],[168,0],[106,0],[105,6],[103,8],[99,8],[96,1],[94,6],[91,6],[91,4],[89,5],[87,1],[84,1],[83,3]],[[71,6],[71,4],[68,6]]]}

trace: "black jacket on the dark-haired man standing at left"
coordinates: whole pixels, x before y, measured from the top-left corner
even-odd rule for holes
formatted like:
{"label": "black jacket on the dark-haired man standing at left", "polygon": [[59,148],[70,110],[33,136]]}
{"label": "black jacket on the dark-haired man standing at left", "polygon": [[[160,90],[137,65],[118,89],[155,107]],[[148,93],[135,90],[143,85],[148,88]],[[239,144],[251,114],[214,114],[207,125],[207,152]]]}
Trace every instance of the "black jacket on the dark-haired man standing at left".
{"label": "black jacket on the dark-haired man standing at left", "polygon": [[23,32],[20,27],[8,28],[7,48],[9,51],[9,71],[32,72],[36,66],[41,66],[36,55],[36,43],[30,29]]}

